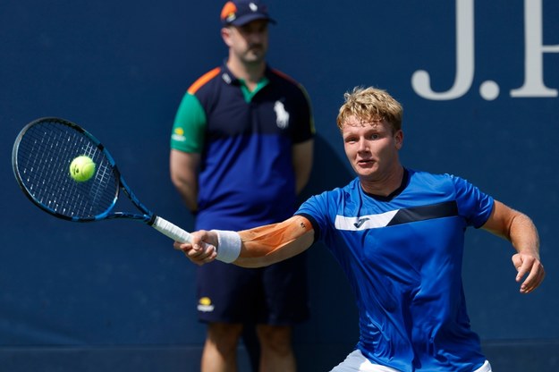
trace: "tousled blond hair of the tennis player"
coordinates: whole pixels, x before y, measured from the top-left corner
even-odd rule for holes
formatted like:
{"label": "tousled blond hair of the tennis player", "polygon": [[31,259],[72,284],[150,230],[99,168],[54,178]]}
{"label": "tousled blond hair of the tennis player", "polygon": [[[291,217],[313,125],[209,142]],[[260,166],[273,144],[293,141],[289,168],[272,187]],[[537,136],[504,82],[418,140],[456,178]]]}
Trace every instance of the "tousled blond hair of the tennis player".
{"label": "tousled blond hair of the tennis player", "polygon": [[385,120],[394,132],[402,129],[402,105],[383,89],[355,87],[343,94],[345,102],[338,113],[336,123],[340,130],[354,116],[362,125]]}

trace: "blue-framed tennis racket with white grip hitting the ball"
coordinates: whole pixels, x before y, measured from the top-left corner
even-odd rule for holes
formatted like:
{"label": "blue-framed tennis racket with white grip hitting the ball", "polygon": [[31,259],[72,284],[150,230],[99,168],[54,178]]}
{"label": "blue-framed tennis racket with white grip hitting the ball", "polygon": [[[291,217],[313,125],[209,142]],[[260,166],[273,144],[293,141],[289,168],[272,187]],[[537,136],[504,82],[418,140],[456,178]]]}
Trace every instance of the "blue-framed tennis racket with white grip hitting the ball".
{"label": "blue-framed tennis racket with white grip hitting the ball", "polygon": [[[95,173],[74,181],[70,165],[89,156]],[[124,182],[113,156],[88,131],[64,119],[46,117],[27,124],[13,144],[12,165],[23,193],[45,212],[73,222],[131,219],[144,222],[174,241],[190,242],[191,234],[153,214]],[[116,212],[121,191],[138,208]]]}

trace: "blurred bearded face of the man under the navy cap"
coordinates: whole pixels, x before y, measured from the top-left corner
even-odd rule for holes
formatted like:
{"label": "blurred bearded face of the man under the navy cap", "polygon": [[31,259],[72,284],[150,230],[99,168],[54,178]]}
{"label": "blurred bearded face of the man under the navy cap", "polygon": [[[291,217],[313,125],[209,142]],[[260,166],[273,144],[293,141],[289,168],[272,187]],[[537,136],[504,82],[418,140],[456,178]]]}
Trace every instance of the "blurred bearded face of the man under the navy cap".
{"label": "blurred bearded face of the man under the navy cap", "polygon": [[233,56],[243,63],[261,63],[268,47],[267,21],[251,21],[224,29],[224,40]]}

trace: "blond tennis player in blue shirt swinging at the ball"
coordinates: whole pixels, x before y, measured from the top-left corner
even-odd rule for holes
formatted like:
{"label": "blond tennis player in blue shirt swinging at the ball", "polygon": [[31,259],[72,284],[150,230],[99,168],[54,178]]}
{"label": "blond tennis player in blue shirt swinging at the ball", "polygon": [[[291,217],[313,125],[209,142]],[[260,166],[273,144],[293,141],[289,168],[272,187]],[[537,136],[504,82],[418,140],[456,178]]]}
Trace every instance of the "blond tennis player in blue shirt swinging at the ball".
{"label": "blond tennis player in blue shirt swinging at the ball", "polygon": [[310,198],[282,223],[199,231],[174,247],[199,265],[251,267],[323,241],[360,314],[360,340],[332,371],[491,371],[466,311],[464,233],[473,226],[510,241],[520,292],[529,293],[545,276],[536,227],[460,177],[402,166],[402,106],[384,90],[346,93],[337,123],[357,173],[347,186]]}

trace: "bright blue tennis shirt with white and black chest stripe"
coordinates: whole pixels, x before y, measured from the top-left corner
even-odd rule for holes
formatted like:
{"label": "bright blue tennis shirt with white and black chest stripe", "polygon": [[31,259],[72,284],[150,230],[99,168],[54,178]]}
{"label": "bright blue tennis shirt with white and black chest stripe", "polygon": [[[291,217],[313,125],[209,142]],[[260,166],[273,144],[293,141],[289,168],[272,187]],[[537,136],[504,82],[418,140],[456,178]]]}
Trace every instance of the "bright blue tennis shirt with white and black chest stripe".
{"label": "bright blue tennis shirt with white and black chest stripe", "polygon": [[388,198],[359,179],[312,197],[309,218],[349,278],[360,315],[357,348],[400,371],[468,371],[485,361],[462,289],[464,232],[494,199],[453,175],[407,170]]}

